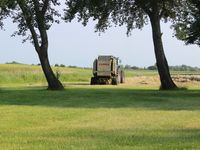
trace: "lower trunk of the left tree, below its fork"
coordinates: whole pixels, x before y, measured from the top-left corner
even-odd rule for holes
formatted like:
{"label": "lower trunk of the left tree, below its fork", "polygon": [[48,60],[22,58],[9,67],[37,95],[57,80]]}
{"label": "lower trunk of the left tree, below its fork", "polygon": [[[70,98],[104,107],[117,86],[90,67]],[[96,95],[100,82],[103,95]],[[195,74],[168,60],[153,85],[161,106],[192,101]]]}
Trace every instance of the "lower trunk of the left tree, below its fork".
{"label": "lower trunk of the left tree, below its fork", "polygon": [[42,66],[42,70],[45,74],[46,80],[48,82],[48,90],[63,90],[64,87],[62,83],[58,80],[58,78],[53,73],[51,66],[49,64],[47,48],[41,49],[40,53],[38,53],[40,58],[40,63]]}

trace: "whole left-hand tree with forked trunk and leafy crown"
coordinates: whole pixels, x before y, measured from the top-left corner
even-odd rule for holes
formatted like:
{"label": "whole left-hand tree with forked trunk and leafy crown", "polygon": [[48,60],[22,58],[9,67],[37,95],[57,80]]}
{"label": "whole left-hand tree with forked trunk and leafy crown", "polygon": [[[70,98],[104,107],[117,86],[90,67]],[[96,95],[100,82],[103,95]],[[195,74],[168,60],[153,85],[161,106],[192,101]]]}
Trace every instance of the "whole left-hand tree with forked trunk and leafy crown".
{"label": "whole left-hand tree with forked trunk and leafy crown", "polygon": [[53,8],[57,5],[59,5],[58,0],[13,0],[12,8],[9,9],[9,16],[14,23],[18,23],[19,28],[13,35],[25,36],[24,42],[31,40],[33,43],[49,90],[64,89],[56,78],[48,59],[47,30],[54,22],[58,23],[57,18],[60,14]]}

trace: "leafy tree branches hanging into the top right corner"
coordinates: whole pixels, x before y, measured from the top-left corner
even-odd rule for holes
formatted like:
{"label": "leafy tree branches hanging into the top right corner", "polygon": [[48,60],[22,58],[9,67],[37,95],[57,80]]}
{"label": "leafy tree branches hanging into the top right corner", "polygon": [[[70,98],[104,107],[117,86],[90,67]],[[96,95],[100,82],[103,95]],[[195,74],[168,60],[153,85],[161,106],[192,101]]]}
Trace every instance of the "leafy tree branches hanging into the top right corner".
{"label": "leafy tree branches hanging into the top right corner", "polygon": [[200,1],[188,0],[185,8],[180,11],[173,25],[175,36],[186,44],[200,46]]}

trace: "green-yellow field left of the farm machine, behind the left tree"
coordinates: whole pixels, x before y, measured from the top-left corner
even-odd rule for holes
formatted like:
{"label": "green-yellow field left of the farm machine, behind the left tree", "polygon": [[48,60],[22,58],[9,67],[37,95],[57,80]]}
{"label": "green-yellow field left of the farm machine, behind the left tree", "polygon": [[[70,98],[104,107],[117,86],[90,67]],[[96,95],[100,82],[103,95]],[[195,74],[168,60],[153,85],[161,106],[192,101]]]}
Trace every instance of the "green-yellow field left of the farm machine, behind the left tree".
{"label": "green-yellow field left of the farm machine, behind the left tree", "polygon": [[[53,67],[62,82],[89,82],[90,69]],[[0,64],[1,85],[46,85],[41,66]]]}

